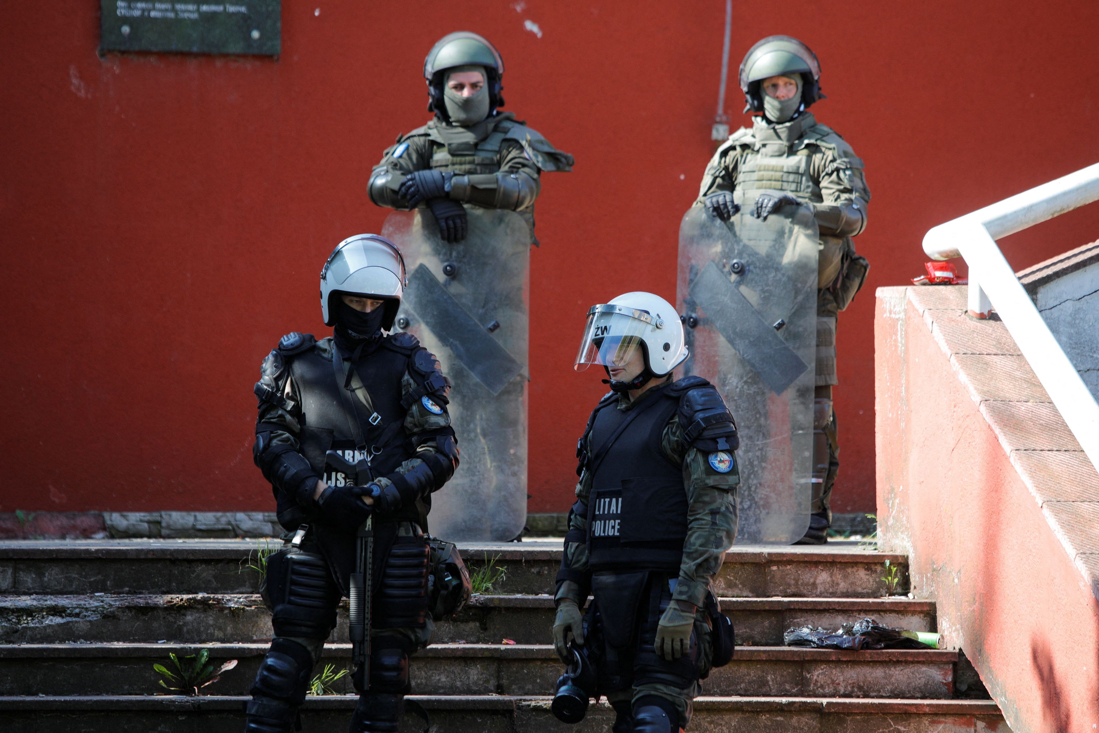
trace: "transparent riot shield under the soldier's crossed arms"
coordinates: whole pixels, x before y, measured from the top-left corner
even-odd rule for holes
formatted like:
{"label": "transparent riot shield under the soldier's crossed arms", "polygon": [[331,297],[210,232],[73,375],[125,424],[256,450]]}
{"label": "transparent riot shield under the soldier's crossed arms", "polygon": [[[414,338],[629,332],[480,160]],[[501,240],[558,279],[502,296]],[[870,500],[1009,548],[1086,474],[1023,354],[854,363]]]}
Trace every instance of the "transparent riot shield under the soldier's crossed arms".
{"label": "transparent riot shield under the soldier's crossed arms", "polygon": [[512,211],[466,207],[469,233],[447,244],[431,213],[398,211],[381,230],[404,255],[397,329],[451,378],[462,462],[432,497],[432,534],[507,541],[526,521],[526,359],[531,233]]}

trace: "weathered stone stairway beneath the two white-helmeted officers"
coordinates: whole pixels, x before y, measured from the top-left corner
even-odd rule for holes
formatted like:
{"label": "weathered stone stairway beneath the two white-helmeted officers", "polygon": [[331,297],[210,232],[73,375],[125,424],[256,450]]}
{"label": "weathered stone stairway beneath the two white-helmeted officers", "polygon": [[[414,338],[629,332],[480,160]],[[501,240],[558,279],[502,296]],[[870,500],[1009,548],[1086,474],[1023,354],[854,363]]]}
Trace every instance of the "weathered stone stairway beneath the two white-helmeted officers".
{"label": "weathered stone stairway beneath the two white-helmeted officers", "polygon": [[[276,544],[277,543],[273,543]],[[267,640],[270,617],[247,569],[248,541],[0,542],[0,728],[4,731],[240,731],[241,703]],[[417,699],[433,731],[570,730],[548,709],[562,665],[551,642],[550,592],[559,541],[465,547],[471,567],[496,558],[506,577],[437,624],[435,644],[413,657]],[[742,548],[726,556],[717,587],[736,626],[733,662],[715,669],[696,702],[691,731],[1000,731],[990,700],[955,699],[953,651],[832,652],[781,646],[795,625],[836,628],[866,615],[935,630],[929,601],[886,598],[885,562],[902,555],[855,543],[823,548]],[[334,641],[346,640],[341,613]],[[947,640],[948,641],[948,640]],[[153,664],[169,652],[238,659],[210,696],[160,696]],[[348,644],[322,664],[349,666]],[[310,697],[304,731],[344,730],[355,698]],[[612,712],[592,706],[571,730],[609,731]],[[409,717],[403,730],[421,731]]]}

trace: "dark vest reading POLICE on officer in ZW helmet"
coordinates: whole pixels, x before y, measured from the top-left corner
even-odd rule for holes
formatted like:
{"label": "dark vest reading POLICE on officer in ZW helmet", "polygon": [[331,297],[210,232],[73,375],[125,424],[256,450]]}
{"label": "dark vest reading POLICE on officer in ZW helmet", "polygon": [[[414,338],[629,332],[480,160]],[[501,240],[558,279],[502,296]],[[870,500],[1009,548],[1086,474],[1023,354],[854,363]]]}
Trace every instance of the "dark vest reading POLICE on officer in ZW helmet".
{"label": "dark vest reading POLICE on officer in ZW helmet", "polygon": [[682,469],[660,447],[678,404],[663,386],[642,396],[632,410],[617,409],[618,400],[597,408],[588,464],[595,467],[588,499],[592,571],[679,571],[687,492]]}

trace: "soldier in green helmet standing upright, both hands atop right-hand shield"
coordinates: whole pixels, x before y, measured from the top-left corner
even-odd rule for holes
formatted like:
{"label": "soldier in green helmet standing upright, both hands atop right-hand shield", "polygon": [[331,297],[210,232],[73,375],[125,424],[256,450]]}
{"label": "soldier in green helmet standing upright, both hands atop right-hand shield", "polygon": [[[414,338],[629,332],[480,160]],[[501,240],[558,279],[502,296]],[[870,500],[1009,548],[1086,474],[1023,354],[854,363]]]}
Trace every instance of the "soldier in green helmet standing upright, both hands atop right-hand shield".
{"label": "soldier in green helmet standing upright, both hands atop right-hand shield", "polygon": [[[808,206],[820,231],[817,290],[817,378],[813,406],[812,517],[800,541],[820,544],[832,523],[832,487],[839,471],[839,437],[832,408],[836,314],[866,279],[868,264],[852,237],[866,229],[870,191],[863,162],[843,137],[808,108],[824,95],[820,63],[803,43],[774,35],[752,46],[740,70],[752,127],[741,127],[707,166],[698,206],[728,221],[739,211],[734,195],[766,189],[752,215],[766,220],[784,207]],[[741,197],[743,199],[743,197]]]}

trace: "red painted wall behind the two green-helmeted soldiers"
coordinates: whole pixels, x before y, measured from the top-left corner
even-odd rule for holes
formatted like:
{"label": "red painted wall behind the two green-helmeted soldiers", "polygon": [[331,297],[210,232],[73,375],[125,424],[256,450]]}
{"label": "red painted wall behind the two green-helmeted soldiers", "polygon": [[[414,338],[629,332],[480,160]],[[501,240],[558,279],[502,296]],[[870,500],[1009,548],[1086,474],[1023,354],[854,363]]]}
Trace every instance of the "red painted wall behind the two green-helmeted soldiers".
{"label": "red painted wall behind the two green-helmeted soldiers", "polygon": [[[321,264],[381,227],[369,168],[426,121],[423,56],[457,29],[498,44],[507,109],[577,159],[545,178],[531,298],[530,509],[568,506],[602,391],[571,370],[584,312],[625,290],[675,297],[679,219],[713,149],[724,3],[282,4],[278,60],[99,58],[95,0],[0,9],[0,510],[269,504],[251,456],[259,362],[286,331],[323,331]],[[870,293],[920,273],[930,226],[1099,159],[1099,5],[733,5],[731,71],[761,36],[803,38],[830,97],[814,112],[867,163],[857,245],[873,269],[841,319],[833,508],[869,511]],[[745,120],[733,79],[729,100]],[[1092,208],[1006,251],[1022,267],[1097,230]]]}

